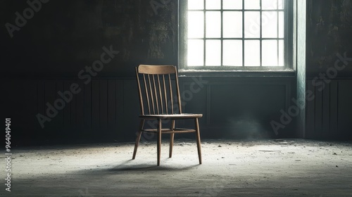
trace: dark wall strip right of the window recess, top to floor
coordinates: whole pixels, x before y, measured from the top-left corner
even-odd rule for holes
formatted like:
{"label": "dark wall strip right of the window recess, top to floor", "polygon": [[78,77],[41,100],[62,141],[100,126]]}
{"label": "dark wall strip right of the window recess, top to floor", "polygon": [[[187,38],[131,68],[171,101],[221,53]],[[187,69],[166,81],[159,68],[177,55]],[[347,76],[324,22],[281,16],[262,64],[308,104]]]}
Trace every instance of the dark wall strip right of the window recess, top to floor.
{"label": "dark wall strip right of the window recess, top to floor", "polygon": [[352,1],[307,1],[309,138],[352,139]]}

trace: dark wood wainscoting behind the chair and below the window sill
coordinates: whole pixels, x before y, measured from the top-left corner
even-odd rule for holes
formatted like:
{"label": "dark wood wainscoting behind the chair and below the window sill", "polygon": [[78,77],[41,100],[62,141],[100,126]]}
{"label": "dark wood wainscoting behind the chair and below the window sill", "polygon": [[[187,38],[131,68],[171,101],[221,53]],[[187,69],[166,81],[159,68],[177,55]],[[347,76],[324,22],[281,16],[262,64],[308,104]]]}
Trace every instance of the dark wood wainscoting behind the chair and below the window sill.
{"label": "dark wood wainscoting behind the chair and below the window sill", "polygon": [[[279,122],[280,110],[291,106],[295,87],[295,77],[180,77],[183,111],[203,113],[205,139],[294,137],[294,120],[277,135],[270,121]],[[13,143],[133,141],[137,132],[135,77],[96,78],[87,84],[78,78],[3,79],[1,92],[1,117],[11,117]]]}

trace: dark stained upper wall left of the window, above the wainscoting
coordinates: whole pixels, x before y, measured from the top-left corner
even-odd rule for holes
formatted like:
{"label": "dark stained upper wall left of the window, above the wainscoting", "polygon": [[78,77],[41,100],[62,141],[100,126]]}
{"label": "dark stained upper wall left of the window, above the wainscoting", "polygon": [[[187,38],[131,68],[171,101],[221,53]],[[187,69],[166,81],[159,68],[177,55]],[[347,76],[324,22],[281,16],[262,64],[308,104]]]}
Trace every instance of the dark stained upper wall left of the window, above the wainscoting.
{"label": "dark stained upper wall left of the window, above the wainscoting", "polygon": [[[38,1],[40,2],[40,1]],[[1,73],[14,77],[77,77],[103,46],[119,51],[98,76],[133,76],[140,63],[177,64],[177,4],[143,0],[51,0],[13,32],[26,1],[1,3]],[[4,74],[6,73],[6,74]]]}

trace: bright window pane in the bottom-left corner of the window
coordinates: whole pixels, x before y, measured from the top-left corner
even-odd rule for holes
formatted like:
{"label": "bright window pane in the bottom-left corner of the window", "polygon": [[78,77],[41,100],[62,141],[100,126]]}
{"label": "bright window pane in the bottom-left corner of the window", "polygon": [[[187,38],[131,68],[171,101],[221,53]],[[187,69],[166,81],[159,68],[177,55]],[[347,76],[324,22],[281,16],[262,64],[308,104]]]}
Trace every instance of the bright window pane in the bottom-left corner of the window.
{"label": "bright window pane in the bottom-left corner of the window", "polygon": [[201,39],[189,39],[188,40],[188,54],[187,64],[188,65],[204,65],[204,42]]}

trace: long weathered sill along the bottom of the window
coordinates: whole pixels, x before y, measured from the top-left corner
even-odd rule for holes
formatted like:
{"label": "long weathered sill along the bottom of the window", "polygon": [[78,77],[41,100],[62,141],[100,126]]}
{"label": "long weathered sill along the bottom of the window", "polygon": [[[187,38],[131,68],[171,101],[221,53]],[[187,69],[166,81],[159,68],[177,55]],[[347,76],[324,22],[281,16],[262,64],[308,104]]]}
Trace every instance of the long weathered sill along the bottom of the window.
{"label": "long weathered sill along the bottom of the window", "polygon": [[287,70],[178,70],[179,77],[295,77],[296,71]]}

